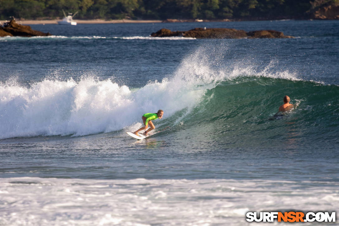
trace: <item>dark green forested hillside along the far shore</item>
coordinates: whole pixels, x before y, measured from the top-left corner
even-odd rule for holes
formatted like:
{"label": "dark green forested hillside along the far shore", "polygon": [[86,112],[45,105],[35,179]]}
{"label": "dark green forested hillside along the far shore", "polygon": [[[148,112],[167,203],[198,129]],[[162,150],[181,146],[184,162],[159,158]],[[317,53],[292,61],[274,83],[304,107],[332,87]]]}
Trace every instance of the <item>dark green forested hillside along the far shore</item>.
{"label": "dark green forested hillside along the far shore", "polygon": [[0,0],[0,19],[309,19],[339,0]]}

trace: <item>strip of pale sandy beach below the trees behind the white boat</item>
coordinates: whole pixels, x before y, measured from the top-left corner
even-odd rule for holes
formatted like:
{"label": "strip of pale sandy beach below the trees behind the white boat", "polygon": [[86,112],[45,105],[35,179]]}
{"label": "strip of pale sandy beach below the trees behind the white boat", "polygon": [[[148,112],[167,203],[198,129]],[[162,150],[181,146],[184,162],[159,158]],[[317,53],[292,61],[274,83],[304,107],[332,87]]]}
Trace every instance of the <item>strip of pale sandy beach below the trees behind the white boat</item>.
{"label": "strip of pale sandy beach below the trees behind the white boat", "polygon": [[[59,20],[16,20],[18,24],[23,24],[23,25],[29,25],[29,24],[58,24]],[[102,20],[102,19],[96,19],[96,20],[73,20],[77,22],[78,24],[81,23],[161,23],[162,20]],[[0,23],[3,24],[6,22],[5,20],[0,20]]]}

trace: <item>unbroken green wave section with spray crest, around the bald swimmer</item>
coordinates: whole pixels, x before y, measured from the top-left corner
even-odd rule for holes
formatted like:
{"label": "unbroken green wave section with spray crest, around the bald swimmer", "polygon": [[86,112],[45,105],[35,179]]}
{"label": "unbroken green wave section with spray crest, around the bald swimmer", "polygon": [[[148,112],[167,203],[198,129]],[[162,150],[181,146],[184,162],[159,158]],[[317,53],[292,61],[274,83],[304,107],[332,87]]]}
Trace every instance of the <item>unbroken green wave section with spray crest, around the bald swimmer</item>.
{"label": "unbroken green wave section with spray crest, around the bald swimmer", "polygon": [[[272,147],[285,141],[299,146],[314,141],[338,144],[337,85],[307,80],[296,71],[277,67],[277,60],[266,65],[236,57],[223,60],[227,51],[200,49],[177,71],[176,76],[194,80],[205,91],[181,121],[194,136],[209,146]],[[295,109],[275,117],[285,95]]]}

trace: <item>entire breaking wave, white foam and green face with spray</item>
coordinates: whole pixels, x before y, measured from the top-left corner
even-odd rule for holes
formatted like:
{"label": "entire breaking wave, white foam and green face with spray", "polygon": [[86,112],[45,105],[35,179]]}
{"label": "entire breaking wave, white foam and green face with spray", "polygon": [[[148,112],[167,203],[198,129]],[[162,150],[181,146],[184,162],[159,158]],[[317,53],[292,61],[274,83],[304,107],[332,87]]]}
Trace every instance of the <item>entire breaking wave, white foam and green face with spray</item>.
{"label": "entire breaking wave, white foam and green face with spray", "polygon": [[[2,82],[0,138],[134,130],[141,126],[142,114],[163,109],[160,128],[184,125],[198,136],[215,139],[239,135],[249,140],[279,139],[284,138],[282,130],[303,139],[335,139],[338,86],[278,70],[274,60],[260,67],[225,60],[227,49],[210,48],[193,51],[172,76],[138,89],[119,86],[114,78],[91,76],[78,81],[46,78],[29,86],[13,79]],[[296,109],[274,118],[284,95],[291,97]]]}

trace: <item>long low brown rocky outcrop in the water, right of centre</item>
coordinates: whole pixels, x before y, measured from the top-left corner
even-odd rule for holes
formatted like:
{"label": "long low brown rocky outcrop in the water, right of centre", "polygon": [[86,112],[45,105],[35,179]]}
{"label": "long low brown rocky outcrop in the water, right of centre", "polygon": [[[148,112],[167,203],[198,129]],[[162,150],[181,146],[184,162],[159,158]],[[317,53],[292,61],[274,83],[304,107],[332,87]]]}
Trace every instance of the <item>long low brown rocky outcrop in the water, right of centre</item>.
{"label": "long low brown rocky outcrop in the water, right of centre", "polygon": [[185,38],[294,38],[293,36],[286,36],[282,32],[273,30],[251,31],[246,33],[244,30],[229,28],[195,28],[190,31],[176,32],[161,29],[151,34],[151,37],[171,36],[182,36]]}

